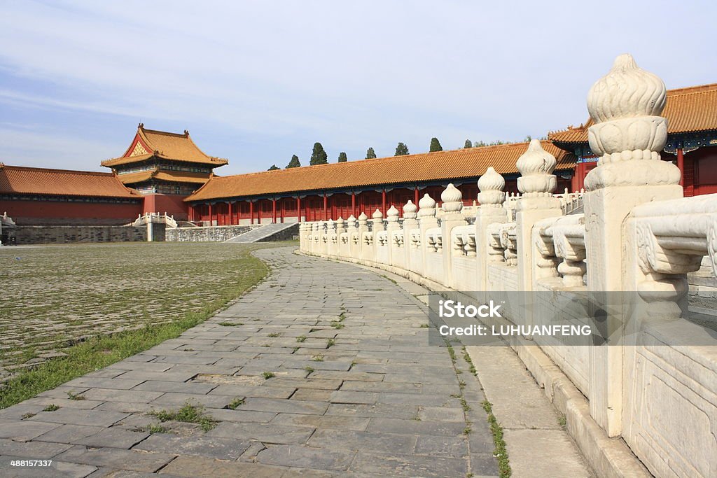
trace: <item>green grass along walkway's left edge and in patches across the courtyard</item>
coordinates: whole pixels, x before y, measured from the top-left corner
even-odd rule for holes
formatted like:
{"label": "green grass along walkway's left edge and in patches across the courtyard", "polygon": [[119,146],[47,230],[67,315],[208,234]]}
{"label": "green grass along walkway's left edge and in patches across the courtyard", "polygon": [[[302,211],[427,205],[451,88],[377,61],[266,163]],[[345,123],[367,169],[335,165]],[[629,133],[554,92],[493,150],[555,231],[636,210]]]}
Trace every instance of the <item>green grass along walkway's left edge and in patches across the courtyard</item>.
{"label": "green grass along walkway's left edge and in patches across the courtyard", "polygon": [[[166,246],[164,243],[156,244]],[[191,245],[194,248],[211,248],[214,244]],[[108,246],[105,244],[104,247],[107,248]],[[120,277],[129,280],[128,278],[137,275],[137,271],[136,269],[133,269],[133,267],[129,267],[126,254],[129,254],[130,252],[137,252],[138,254],[141,254],[146,250],[155,250],[146,249],[146,244],[134,246],[136,249],[133,249],[133,247],[128,246],[127,244],[119,244],[114,247],[118,247],[124,252],[123,264],[120,264],[121,267],[120,265],[115,267],[115,269],[119,268],[118,270],[112,269],[113,272],[111,274],[110,272],[105,271],[106,277],[88,277],[85,282],[82,282],[79,285],[72,285],[72,287],[80,287],[81,289],[82,287],[85,287],[88,280],[92,280],[94,282],[107,282],[108,277],[116,277],[118,274]],[[83,247],[82,250],[88,248],[96,248],[98,251],[100,250],[100,246]],[[138,330],[125,330],[116,333],[108,333],[106,335],[95,335],[85,341],[75,343],[75,345],[62,348],[62,352],[66,354],[63,357],[49,359],[46,362],[32,368],[23,369],[17,373],[16,376],[4,383],[4,387],[0,390],[0,408],[6,408],[14,405],[15,403],[27,400],[27,398],[37,396],[38,393],[55,388],[62,383],[72,380],[73,378],[83,376],[92,371],[97,371],[107,365],[123,360],[124,358],[135,355],[136,353],[140,353],[148,348],[152,348],[165,340],[179,337],[179,335],[185,330],[204,322],[204,320],[212,317],[218,310],[226,307],[229,302],[239,297],[239,295],[242,295],[243,292],[256,285],[257,282],[260,282],[260,280],[266,276],[268,272],[266,265],[259,259],[250,255],[250,252],[257,248],[258,247],[243,247],[239,249],[233,247],[232,251],[236,254],[234,259],[228,260],[219,257],[219,259],[214,262],[212,267],[219,267],[217,264],[222,261],[232,264],[232,267],[226,270],[226,276],[222,277],[222,281],[226,282],[227,285],[217,285],[219,289],[216,291],[214,296],[211,298],[206,297],[204,300],[199,300],[199,304],[195,303],[193,307],[191,307],[191,310],[185,312],[184,315],[179,315],[179,317],[168,322],[148,322],[145,327]],[[59,247],[38,248],[32,249],[32,251],[44,251],[46,249],[60,251],[61,253],[63,252]],[[65,249],[72,248],[65,247]],[[171,247],[168,247],[168,249],[171,249]],[[30,250],[31,249],[24,250],[23,254],[29,254]],[[105,250],[107,249],[103,249],[103,251]],[[157,250],[161,251],[163,249]],[[194,249],[189,248],[187,250]],[[227,249],[224,250],[226,251]],[[137,259],[136,255],[134,259]],[[181,265],[182,264],[180,262],[179,264],[174,264],[172,267],[177,268],[181,267]],[[185,265],[186,267],[189,267],[189,264]],[[7,278],[4,278],[4,273],[1,269],[2,268],[0,267],[0,287],[3,287],[3,282],[5,282],[5,284],[8,284],[9,282]],[[49,269],[52,269],[52,267],[49,267]],[[145,269],[143,269],[143,271],[145,271]],[[189,272],[194,271],[187,271],[186,273]],[[98,272],[98,274],[99,273],[100,272]],[[224,280],[226,277],[232,277],[232,280]],[[42,282],[43,277],[40,276],[34,280]],[[163,284],[166,285],[169,282],[171,281],[162,280],[160,285],[161,287],[164,287]],[[0,289],[0,295],[4,291],[4,289]],[[80,292],[68,286],[68,290],[65,291],[65,294],[70,293],[73,295],[81,295]],[[103,294],[105,296],[114,296],[123,295],[125,292],[117,290],[115,287],[114,290],[111,288],[103,290]],[[181,304],[182,300],[189,301],[194,297],[190,290],[184,290],[184,292],[179,295],[176,294],[176,290],[167,290],[166,292],[163,292],[163,294],[167,295],[167,297],[163,297],[163,302],[158,307],[162,307],[163,311],[171,313],[174,317],[176,317],[178,303]],[[128,297],[132,297],[132,300],[136,300],[133,295],[128,295]],[[88,304],[92,303],[93,299],[90,295],[85,297],[84,300],[85,307],[87,307]],[[197,307],[199,307],[198,310]],[[55,313],[59,313],[58,311],[60,310],[62,310],[62,307],[60,307],[60,305],[55,305],[46,310],[44,314],[50,316]],[[0,307],[0,311],[7,312],[7,310],[3,310],[2,307]],[[0,315],[0,319],[2,318],[9,319],[9,317]],[[16,322],[16,320],[14,322]]]}

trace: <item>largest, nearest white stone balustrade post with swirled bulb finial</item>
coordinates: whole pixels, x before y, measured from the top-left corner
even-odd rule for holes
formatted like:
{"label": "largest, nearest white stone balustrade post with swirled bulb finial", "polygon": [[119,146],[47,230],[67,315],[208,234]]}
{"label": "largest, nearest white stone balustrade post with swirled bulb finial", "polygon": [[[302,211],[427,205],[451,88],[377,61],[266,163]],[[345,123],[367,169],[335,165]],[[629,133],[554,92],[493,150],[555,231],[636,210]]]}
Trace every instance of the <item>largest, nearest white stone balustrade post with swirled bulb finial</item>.
{"label": "largest, nearest white stone balustrade post with swirled bulb finial", "polygon": [[[637,67],[629,54],[617,57],[588,93],[594,121],[588,139],[600,159],[585,178],[583,197],[587,287],[605,300],[609,292],[634,290],[635,277],[623,277],[626,270],[634,274],[626,267],[630,257],[624,254],[622,227],[632,208],[683,196],[680,170],[660,161],[668,132],[668,121],[660,116],[665,97],[663,81]],[[590,414],[609,436],[622,431],[623,352],[630,350],[590,348]]]}

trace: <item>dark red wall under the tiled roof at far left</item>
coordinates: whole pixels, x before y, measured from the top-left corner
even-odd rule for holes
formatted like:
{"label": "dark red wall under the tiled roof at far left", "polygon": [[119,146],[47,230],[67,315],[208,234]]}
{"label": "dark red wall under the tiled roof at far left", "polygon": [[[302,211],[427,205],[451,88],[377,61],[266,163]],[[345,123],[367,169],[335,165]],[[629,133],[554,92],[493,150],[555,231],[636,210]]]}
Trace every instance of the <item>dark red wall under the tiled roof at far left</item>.
{"label": "dark red wall under the tiled roof at far left", "polygon": [[0,200],[0,214],[5,211],[16,224],[127,224],[142,214],[142,203]]}

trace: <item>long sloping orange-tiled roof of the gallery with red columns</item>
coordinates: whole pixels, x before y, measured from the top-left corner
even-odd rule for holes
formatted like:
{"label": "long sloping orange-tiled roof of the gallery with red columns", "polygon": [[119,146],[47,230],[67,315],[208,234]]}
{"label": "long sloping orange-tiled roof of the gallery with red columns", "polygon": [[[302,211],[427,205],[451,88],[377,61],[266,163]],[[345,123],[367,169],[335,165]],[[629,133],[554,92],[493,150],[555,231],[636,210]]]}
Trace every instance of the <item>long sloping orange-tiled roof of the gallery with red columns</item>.
{"label": "long sloping orange-tiled roof of the gallery with red columns", "polygon": [[[541,144],[558,160],[556,169],[573,168],[575,157],[571,153],[557,148],[548,140],[541,141]],[[475,178],[485,173],[488,166],[493,166],[498,173],[517,173],[516,161],[527,148],[528,143],[511,143],[303,166],[221,178],[212,176],[185,201]]]}

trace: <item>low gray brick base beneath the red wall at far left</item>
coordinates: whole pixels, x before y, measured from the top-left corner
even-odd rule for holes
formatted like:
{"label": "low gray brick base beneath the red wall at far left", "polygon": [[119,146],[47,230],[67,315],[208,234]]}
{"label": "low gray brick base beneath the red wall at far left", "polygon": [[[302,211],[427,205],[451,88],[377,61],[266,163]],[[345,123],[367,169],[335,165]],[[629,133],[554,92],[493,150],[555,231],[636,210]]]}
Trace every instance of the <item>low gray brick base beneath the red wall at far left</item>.
{"label": "low gray brick base beneath the red wall at far left", "polygon": [[18,245],[147,240],[146,226],[17,226],[13,233]]}

